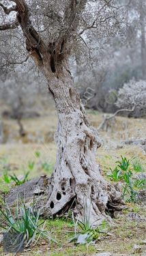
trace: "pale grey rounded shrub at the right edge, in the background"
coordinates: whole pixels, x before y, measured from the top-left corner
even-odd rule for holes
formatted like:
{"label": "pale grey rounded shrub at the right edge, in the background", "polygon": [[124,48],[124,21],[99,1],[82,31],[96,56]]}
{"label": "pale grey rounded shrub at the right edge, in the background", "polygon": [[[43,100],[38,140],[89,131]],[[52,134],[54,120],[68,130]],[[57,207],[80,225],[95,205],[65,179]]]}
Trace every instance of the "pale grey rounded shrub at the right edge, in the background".
{"label": "pale grey rounded shrub at the right edge, in the background", "polygon": [[146,81],[131,80],[118,91],[116,105],[119,109],[133,109],[134,117],[146,115]]}

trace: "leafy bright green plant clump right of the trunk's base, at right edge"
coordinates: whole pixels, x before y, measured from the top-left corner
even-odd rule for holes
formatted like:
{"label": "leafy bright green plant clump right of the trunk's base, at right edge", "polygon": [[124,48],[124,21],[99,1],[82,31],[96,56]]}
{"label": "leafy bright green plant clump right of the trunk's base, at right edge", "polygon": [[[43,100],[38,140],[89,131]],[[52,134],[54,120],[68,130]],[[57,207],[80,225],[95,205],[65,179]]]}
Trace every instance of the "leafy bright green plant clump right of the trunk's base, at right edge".
{"label": "leafy bright green plant clump right of the trunk's base, at right edge", "polygon": [[117,161],[117,166],[112,170],[111,174],[108,177],[111,178],[114,182],[121,181],[123,191],[122,197],[126,201],[135,202],[138,195],[138,190],[145,188],[146,180],[145,179],[135,179],[133,172],[142,172],[142,165],[139,161],[132,162],[133,158],[127,159],[126,157],[121,156],[121,160]]}

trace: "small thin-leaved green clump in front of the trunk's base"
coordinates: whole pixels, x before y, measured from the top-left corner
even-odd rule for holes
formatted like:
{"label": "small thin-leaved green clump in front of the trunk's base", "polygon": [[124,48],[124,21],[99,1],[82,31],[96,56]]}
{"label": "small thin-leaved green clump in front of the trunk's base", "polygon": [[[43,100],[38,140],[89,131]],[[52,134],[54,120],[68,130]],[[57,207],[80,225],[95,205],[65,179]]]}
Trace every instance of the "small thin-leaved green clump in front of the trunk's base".
{"label": "small thin-leaved green clump in front of the trunk's base", "polygon": [[74,237],[70,239],[70,242],[75,241],[76,244],[90,244],[98,240],[100,233],[107,233],[108,231],[109,226],[106,221],[103,221],[98,227],[93,228],[94,223],[90,222],[90,206],[87,204],[87,201],[84,203],[84,212],[83,218],[77,221],[74,221],[74,215],[72,214]]}

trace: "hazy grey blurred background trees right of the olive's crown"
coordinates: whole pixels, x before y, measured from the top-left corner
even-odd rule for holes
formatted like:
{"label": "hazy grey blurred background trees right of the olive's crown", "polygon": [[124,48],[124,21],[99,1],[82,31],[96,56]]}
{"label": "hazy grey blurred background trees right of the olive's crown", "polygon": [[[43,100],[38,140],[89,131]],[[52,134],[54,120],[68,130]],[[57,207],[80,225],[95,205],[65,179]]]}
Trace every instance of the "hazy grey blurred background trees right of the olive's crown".
{"label": "hazy grey blurred background trees right of the olive's crown", "polygon": [[[85,63],[79,62],[80,74],[79,72],[76,74],[75,80],[76,85],[81,88],[81,98],[87,87],[94,89],[95,95],[87,106],[106,113],[117,111],[115,105],[117,91],[124,83],[129,83],[133,77],[136,81],[145,80],[146,74],[145,1],[118,2],[120,2],[118,10],[121,12],[118,14],[120,24],[118,32],[111,33],[112,36],[100,46],[100,51],[96,51],[93,61],[96,66],[89,69]],[[97,38],[94,45],[96,48],[99,45],[96,33],[94,38]]]}

